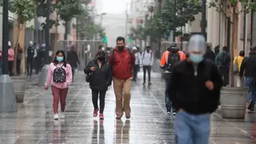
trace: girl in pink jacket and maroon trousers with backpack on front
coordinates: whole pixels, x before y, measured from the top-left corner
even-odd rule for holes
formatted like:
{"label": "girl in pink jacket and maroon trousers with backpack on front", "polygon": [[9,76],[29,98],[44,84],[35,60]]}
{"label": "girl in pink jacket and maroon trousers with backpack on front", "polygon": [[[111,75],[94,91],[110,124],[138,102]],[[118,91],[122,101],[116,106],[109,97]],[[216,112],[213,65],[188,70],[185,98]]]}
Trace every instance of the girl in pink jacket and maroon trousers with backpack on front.
{"label": "girl in pink jacket and maroon trousers with backpack on front", "polygon": [[68,93],[69,86],[72,82],[71,65],[66,63],[65,53],[58,50],[55,54],[55,60],[50,64],[44,90],[48,90],[51,85],[53,94],[54,119],[58,120],[58,106],[60,101],[61,113],[60,118],[65,118],[65,98]]}

